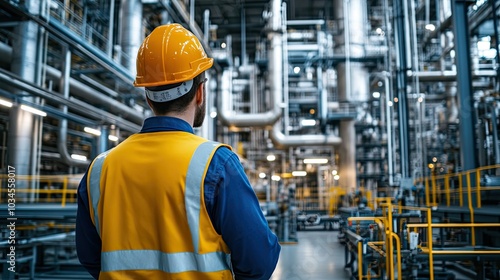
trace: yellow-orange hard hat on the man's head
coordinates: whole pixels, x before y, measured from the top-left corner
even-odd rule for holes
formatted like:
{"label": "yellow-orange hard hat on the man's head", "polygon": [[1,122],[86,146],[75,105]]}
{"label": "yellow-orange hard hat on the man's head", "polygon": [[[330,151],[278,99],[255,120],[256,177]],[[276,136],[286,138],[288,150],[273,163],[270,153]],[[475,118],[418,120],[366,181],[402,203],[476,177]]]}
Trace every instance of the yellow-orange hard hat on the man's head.
{"label": "yellow-orange hard hat on the man's head", "polygon": [[193,33],[173,23],[156,27],[137,52],[136,87],[154,87],[192,80],[212,67]]}

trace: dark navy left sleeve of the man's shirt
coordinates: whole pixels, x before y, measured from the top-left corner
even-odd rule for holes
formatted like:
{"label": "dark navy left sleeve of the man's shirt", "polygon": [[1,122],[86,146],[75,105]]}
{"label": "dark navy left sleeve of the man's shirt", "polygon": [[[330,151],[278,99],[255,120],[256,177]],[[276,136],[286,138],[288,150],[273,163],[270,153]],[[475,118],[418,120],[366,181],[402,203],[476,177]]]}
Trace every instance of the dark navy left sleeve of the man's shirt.
{"label": "dark navy left sleeve of the man's shirt", "polygon": [[80,263],[95,279],[101,271],[101,238],[90,219],[87,194],[87,174],[78,186],[78,210],[76,213],[76,252]]}

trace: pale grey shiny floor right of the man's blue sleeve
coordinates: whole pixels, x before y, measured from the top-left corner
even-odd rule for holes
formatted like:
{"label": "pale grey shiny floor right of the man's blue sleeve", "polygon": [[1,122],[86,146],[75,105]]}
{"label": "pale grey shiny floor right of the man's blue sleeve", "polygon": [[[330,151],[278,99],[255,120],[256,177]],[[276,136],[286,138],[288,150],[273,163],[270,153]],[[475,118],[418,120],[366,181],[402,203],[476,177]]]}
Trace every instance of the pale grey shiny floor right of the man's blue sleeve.
{"label": "pale grey shiny floor right of the man's blue sleeve", "polygon": [[297,244],[283,244],[271,280],[345,280],[344,246],[337,231],[299,231]]}

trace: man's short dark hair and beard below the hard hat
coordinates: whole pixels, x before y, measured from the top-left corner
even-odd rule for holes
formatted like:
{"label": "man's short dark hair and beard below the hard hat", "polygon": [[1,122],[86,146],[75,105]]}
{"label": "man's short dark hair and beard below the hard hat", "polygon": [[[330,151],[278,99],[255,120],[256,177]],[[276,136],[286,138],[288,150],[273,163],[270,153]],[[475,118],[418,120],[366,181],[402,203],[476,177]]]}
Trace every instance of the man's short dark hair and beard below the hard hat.
{"label": "man's short dark hair and beard below the hard hat", "polygon": [[[167,102],[155,102],[151,99],[149,101],[151,102],[151,109],[153,109],[153,112],[156,115],[165,115],[167,113],[171,112],[176,112],[176,113],[182,113],[184,110],[186,110],[187,106],[191,101],[193,100],[196,90],[200,86],[200,84],[205,80],[205,73],[201,73],[200,75],[194,77],[193,79],[193,87],[191,90],[189,90],[188,93],[184,94],[183,96],[176,98],[171,101]],[[171,89],[180,86],[181,83],[177,84],[171,84],[171,85],[164,85],[164,86],[157,86],[157,87],[148,87],[148,90],[151,91],[162,91],[166,89]],[[147,98],[147,97],[146,97]]]}

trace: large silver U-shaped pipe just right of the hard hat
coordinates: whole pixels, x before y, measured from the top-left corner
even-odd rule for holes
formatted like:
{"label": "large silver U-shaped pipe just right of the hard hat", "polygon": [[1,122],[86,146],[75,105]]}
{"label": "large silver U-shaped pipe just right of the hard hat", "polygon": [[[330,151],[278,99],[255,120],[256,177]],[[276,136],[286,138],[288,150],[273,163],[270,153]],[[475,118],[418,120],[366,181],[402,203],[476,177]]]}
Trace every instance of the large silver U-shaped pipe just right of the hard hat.
{"label": "large silver U-shaped pipe just right of the hard hat", "polygon": [[282,45],[282,27],[281,27],[281,1],[272,1],[271,32],[268,38],[271,41],[271,50],[269,53],[269,69],[271,82],[271,104],[273,108],[264,113],[236,113],[230,108],[232,100],[232,77],[230,70],[224,70],[221,80],[221,98],[217,114],[221,121],[228,126],[236,127],[266,127],[271,126],[278,121],[281,116],[280,101],[283,92],[283,45]]}

